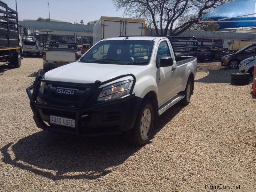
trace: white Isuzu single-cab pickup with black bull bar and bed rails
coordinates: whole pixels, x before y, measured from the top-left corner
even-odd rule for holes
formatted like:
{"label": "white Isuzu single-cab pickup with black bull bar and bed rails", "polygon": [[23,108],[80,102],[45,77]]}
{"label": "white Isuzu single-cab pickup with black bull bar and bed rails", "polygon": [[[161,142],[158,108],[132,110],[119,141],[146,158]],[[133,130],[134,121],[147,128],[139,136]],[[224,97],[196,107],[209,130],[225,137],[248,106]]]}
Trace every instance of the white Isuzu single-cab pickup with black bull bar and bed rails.
{"label": "white Isuzu single-cab pickup with black bull bar and bed rails", "polygon": [[78,61],[27,88],[39,128],[91,136],[123,133],[136,145],[154,121],[194,90],[195,37],[121,36],[99,41]]}

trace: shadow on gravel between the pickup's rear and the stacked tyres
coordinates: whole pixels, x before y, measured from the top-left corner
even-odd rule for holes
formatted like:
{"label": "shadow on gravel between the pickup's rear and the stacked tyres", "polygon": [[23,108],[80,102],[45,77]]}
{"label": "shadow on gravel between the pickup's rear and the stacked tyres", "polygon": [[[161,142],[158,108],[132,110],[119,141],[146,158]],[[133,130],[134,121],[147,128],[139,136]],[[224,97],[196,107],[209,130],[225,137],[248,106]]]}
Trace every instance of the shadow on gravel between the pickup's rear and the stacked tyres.
{"label": "shadow on gravel between the pickup's rear and the stacked tyres", "polygon": [[208,69],[209,74],[201,79],[195,80],[197,83],[230,83],[231,74],[236,73],[237,69]]}

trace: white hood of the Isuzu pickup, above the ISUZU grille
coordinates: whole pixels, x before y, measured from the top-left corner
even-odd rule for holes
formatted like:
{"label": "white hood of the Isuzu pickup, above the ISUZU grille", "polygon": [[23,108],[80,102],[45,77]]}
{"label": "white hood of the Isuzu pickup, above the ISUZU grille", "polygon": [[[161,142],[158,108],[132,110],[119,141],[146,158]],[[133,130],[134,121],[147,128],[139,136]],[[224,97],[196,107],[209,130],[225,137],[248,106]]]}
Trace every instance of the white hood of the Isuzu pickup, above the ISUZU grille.
{"label": "white hood of the Isuzu pickup, above the ISUZU grille", "polygon": [[74,62],[46,72],[44,79],[69,83],[94,83],[96,80],[103,82],[116,76],[134,74],[145,67]]}

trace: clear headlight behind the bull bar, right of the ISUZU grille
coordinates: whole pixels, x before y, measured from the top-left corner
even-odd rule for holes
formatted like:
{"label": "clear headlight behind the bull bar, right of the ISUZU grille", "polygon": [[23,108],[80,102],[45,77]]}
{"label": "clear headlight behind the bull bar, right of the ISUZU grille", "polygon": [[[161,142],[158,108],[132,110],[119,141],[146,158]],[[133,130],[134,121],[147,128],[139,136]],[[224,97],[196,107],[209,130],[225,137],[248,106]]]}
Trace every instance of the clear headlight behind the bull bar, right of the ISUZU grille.
{"label": "clear headlight behind the bull bar, right of the ISUZU grille", "polygon": [[131,82],[130,79],[127,79],[104,87],[97,101],[106,101],[126,95],[131,89]]}

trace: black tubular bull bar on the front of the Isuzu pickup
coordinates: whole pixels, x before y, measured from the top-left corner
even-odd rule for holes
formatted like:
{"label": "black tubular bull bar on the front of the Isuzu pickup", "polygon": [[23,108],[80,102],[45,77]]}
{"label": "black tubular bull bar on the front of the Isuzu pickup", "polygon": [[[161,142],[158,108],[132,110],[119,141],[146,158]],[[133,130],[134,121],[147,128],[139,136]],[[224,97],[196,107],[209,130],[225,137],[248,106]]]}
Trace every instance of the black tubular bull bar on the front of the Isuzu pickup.
{"label": "black tubular bull bar on the front of the Isuzu pickup", "polygon": [[[38,70],[38,76],[36,77],[35,81],[33,84],[31,84],[31,86],[29,86],[26,91],[30,100],[30,107],[32,109],[32,112],[34,114],[33,118],[34,121],[36,122],[37,127],[43,129],[43,130],[55,130],[55,128],[52,128],[51,126],[47,125],[44,123],[44,120],[42,119],[40,113],[39,113],[39,109],[40,108],[47,108],[47,109],[53,109],[53,110],[58,110],[58,111],[63,111],[63,112],[73,112],[76,114],[76,119],[75,119],[75,129],[76,129],[76,134],[77,135],[84,135],[84,136],[91,136],[91,135],[97,135],[97,134],[81,134],[79,131],[79,124],[81,122],[81,117],[80,114],[83,112],[86,112],[88,110],[92,110],[92,109],[96,109],[96,108],[100,108],[100,107],[105,107],[107,105],[110,104],[115,104],[115,103],[119,103],[122,102],[124,100],[128,100],[131,99],[132,97],[135,96],[135,93],[133,93],[133,88],[136,82],[136,78],[133,74],[125,74],[125,75],[121,75],[121,76],[117,76],[114,78],[111,78],[107,81],[104,82],[100,82],[99,80],[96,80],[93,84],[81,84],[81,83],[68,83],[68,82],[57,82],[57,81],[48,81],[48,80],[44,80],[41,76],[42,73],[42,69]],[[126,76],[132,76],[133,78],[133,82],[132,82],[132,87],[130,89],[129,94],[124,95],[122,97],[113,99],[113,100],[108,100],[108,101],[104,101],[104,102],[100,102],[100,103],[96,103],[96,104],[92,104],[90,106],[85,106],[87,104],[87,102],[89,100],[92,99],[93,97],[93,93],[95,93],[98,89],[102,89],[100,88],[100,86],[104,85],[104,84],[108,84],[110,82],[113,82],[117,79],[126,77]],[[47,104],[47,103],[39,103],[37,102],[37,96],[38,96],[38,92],[39,92],[39,88],[40,88],[40,84],[41,82],[44,83],[49,83],[49,84],[53,84],[56,83],[58,85],[71,85],[71,86],[75,86],[78,85],[80,87],[88,87],[90,86],[91,89],[89,91],[89,93],[87,93],[86,95],[81,96],[81,104],[79,105],[79,107],[75,108],[75,107],[63,107],[63,106],[58,106],[58,105],[52,105],[52,104]],[[31,90],[33,90],[33,92],[31,93]],[[113,132],[114,133],[114,132]],[[104,134],[104,133],[103,133]],[[107,133],[107,134],[111,134],[111,132]]]}

